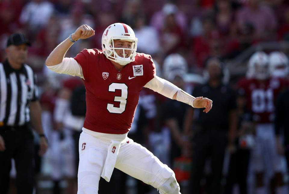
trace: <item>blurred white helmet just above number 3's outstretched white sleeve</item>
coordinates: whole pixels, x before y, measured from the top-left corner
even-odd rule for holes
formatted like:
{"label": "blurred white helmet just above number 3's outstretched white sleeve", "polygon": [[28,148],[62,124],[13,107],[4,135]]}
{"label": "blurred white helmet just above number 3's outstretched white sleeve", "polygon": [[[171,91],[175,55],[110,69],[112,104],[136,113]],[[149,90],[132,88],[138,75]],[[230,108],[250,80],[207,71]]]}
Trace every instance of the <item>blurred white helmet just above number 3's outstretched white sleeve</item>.
{"label": "blurred white helmet just above number 3's outstretched white sleeve", "polygon": [[185,76],[187,72],[188,64],[180,54],[170,54],[163,61],[163,76],[169,81],[172,81],[176,75]]}

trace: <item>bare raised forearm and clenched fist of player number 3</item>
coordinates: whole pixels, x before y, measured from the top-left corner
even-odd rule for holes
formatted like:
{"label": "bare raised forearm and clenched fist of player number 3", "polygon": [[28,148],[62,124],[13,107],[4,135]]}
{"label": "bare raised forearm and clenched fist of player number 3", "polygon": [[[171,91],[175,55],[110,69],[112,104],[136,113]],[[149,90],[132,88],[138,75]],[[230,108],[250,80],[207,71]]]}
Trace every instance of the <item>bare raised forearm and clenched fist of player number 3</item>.
{"label": "bare raised forearm and clenched fist of player number 3", "polygon": [[[95,31],[88,25],[79,26],[76,31],[71,35],[73,41],[77,41],[78,39],[86,39],[90,38],[94,35]],[[67,50],[73,45],[73,42],[70,38],[66,38],[63,42],[61,42],[54,50],[49,54],[46,59],[47,66],[54,66],[62,62],[64,55]]]}

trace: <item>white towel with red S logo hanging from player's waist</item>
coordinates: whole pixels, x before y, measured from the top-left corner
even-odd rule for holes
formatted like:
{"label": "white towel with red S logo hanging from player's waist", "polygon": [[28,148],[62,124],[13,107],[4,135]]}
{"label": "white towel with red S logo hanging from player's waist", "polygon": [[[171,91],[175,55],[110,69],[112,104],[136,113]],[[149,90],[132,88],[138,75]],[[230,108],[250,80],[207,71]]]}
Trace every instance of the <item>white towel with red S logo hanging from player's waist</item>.
{"label": "white towel with red S logo hanging from player's waist", "polygon": [[103,171],[101,177],[104,178],[107,182],[110,181],[115,163],[117,161],[117,154],[120,150],[120,141],[111,141],[107,149],[107,157],[104,163]]}

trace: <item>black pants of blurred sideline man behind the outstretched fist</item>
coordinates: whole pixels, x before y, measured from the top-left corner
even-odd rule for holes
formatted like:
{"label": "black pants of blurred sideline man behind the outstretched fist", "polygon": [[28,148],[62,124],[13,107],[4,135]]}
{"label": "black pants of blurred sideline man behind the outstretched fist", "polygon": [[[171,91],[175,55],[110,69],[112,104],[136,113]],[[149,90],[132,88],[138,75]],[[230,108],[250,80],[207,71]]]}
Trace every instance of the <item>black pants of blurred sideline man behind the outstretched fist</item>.
{"label": "black pants of blurred sideline man behind the outstretched fist", "polygon": [[211,180],[207,185],[207,193],[220,194],[227,142],[227,131],[222,129],[206,129],[195,134],[193,138],[193,158],[190,178],[191,193],[201,193],[200,182],[204,177],[204,166],[207,159],[210,159]]}

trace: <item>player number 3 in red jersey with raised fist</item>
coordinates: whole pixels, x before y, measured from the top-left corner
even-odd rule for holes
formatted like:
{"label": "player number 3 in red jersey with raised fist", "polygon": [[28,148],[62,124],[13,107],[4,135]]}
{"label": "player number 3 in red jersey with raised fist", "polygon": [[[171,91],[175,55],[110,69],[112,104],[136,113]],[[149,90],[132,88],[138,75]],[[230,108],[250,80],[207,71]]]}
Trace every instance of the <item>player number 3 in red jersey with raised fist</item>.
{"label": "player number 3 in red jersey with raised fist", "polygon": [[150,88],[166,97],[209,112],[212,100],[193,97],[156,76],[150,55],[137,53],[138,39],[126,24],[114,23],[102,35],[102,51],[65,53],[79,39],[94,35],[82,25],[48,56],[52,71],[79,76],[86,88],[86,117],[79,138],[78,194],[98,192],[100,177],[109,181],[114,168],[150,184],[161,194],[179,194],[174,172],[151,152],[127,137],[139,92]]}

